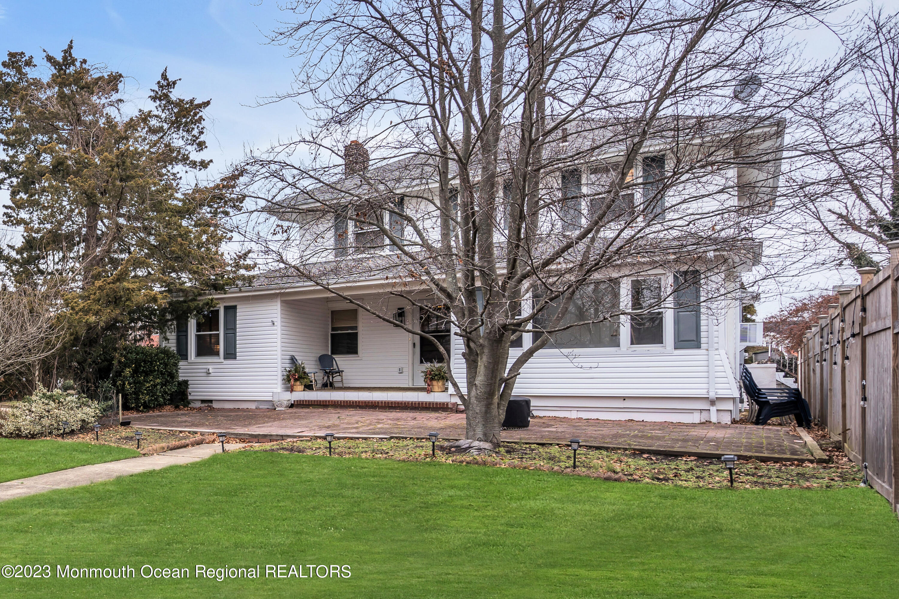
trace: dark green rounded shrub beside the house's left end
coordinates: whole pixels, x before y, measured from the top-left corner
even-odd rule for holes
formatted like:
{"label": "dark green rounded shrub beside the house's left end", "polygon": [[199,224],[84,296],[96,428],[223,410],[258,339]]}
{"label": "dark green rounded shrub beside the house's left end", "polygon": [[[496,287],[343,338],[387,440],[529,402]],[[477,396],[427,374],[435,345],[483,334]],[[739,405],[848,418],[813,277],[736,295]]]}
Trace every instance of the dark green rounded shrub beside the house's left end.
{"label": "dark green rounded shrub beside the house's left end", "polygon": [[125,410],[147,411],[167,405],[178,391],[178,354],[169,348],[128,345],[116,360],[116,390]]}

